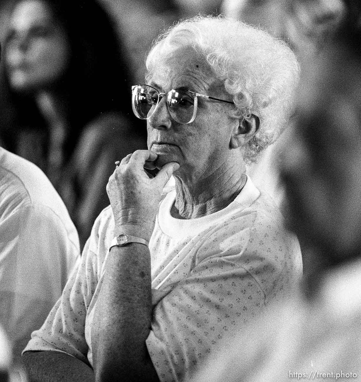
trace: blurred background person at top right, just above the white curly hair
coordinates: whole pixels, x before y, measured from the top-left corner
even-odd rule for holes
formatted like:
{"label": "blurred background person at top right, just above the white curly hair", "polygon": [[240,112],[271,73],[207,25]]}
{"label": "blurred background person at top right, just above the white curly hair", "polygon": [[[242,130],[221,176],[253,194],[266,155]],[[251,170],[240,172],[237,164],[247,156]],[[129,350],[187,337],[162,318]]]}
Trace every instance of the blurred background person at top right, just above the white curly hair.
{"label": "blurred background person at top right, just above the white curly hair", "polygon": [[302,65],[322,50],[345,6],[342,0],[223,0],[221,10],[284,40]]}

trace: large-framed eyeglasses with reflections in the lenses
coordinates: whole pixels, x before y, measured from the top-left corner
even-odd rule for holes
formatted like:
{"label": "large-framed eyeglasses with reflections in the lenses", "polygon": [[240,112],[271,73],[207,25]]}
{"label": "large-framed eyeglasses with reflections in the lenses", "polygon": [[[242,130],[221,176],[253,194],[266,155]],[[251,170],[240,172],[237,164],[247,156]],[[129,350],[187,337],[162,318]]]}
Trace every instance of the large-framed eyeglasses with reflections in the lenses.
{"label": "large-framed eyeglasses with reflections in the lenses", "polygon": [[197,114],[198,97],[234,104],[232,101],[195,93],[184,88],[161,93],[150,85],[135,85],[132,86],[132,107],[135,116],[144,120],[150,118],[164,95],[167,96],[169,114],[178,123],[191,123],[194,121]]}

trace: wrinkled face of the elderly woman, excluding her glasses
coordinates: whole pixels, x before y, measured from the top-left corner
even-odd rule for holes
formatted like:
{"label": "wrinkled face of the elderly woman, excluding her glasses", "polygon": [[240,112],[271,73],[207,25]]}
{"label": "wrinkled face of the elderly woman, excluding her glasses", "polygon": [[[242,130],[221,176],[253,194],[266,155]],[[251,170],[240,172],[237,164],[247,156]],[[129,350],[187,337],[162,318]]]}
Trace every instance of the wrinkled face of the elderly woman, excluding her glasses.
{"label": "wrinkled face of the elderly woman, excluding her glasses", "polygon": [[[148,84],[160,92],[184,87],[190,91],[230,100],[223,85],[215,79],[204,59],[191,48],[159,59]],[[202,176],[227,165],[231,134],[238,120],[229,117],[231,104],[198,97],[195,120],[189,124],[174,121],[163,97],[154,114],[147,120],[148,148],[159,154],[159,166],[175,161],[180,172]]]}

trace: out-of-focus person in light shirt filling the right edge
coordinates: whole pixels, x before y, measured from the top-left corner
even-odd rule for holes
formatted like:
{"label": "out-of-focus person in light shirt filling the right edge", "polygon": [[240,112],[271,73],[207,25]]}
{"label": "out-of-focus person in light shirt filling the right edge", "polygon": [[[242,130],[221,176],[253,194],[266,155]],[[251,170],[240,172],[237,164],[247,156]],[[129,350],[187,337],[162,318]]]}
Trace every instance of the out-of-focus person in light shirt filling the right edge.
{"label": "out-of-focus person in light shirt filling the right edge", "polygon": [[278,154],[312,273],[195,380],[361,380],[361,6],[345,6],[336,37],[304,67],[295,127]]}

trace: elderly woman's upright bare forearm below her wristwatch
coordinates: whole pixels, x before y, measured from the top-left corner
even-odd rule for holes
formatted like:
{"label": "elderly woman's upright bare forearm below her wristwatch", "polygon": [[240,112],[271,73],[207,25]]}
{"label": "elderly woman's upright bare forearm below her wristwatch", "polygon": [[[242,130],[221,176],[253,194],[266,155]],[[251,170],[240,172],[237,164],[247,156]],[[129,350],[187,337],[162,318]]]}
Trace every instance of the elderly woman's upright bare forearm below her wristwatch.
{"label": "elderly woman's upright bare forearm below her wristwatch", "polygon": [[151,314],[148,247],[139,243],[113,247],[92,326],[96,380],[158,380],[145,344]]}

